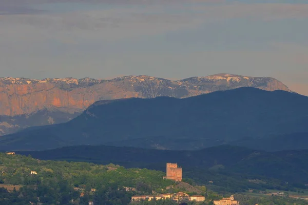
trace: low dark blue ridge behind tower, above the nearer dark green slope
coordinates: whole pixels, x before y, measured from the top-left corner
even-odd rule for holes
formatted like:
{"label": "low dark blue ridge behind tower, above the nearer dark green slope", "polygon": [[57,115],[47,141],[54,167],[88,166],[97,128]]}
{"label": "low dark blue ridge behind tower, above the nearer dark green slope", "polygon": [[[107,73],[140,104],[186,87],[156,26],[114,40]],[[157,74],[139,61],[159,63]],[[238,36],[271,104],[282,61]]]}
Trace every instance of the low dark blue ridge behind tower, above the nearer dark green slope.
{"label": "low dark blue ridge behind tower, above the nearer dark green slope", "polygon": [[308,184],[308,150],[266,152],[236,146],[218,146],[196,151],[155,150],[132,147],[72,146],[43,151],[15,151],[46,160],[118,163],[165,171],[166,162],[178,162],[184,171],[222,166],[228,172],[262,175]]}

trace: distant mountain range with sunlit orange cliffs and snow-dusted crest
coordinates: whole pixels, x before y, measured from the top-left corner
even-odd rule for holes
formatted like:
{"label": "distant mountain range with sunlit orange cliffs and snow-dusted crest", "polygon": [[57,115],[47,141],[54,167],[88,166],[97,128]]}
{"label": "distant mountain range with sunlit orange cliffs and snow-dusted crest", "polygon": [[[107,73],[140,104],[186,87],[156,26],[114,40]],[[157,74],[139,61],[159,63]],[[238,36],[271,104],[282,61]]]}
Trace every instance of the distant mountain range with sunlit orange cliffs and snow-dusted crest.
{"label": "distant mountain range with sunlit orange cliffs and snow-dusted crest", "polygon": [[190,77],[177,81],[145,75],[110,80],[4,77],[0,78],[0,136],[31,126],[68,121],[99,100],[158,96],[185,98],[239,87],[291,92],[275,78],[233,74]]}

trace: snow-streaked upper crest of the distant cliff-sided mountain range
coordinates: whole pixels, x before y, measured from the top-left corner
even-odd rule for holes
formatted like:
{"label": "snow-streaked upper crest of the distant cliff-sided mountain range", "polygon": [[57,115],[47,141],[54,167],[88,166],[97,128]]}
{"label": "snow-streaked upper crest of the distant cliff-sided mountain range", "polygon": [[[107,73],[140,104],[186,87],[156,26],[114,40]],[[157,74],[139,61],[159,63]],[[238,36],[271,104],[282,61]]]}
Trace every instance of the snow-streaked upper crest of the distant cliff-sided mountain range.
{"label": "snow-streaked upper crest of the distant cliff-sided mountain range", "polygon": [[220,86],[223,84],[225,86],[236,86],[236,87],[266,87],[268,83],[275,80],[271,77],[248,77],[234,74],[215,74],[208,75],[204,77],[190,77],[186,79],[181,79],[177,81],[172,81],[163,78],[151,77],[147,75],[128,75],[117,77],[113,79],[94,79],[85,77],[82,79],[76,79],[72,77],[66,78],[45,78],[45,79],[29,79],[29,78],[13,78],[13,77],[2,77],[0,78],[0,84],[5,85],[16,84],[16,85],[29,85],[29,84],[44,84],[52,83],[57,85],[62,85],[65,88],[71,89],[76,87],[88,87],[96,84],[101,84],[105,82],[115,83],[118,81],[128,81],[131,86],[141,85],[143,83],[151,84],[154,83],[156,86],[162,85],[167,86],[169,89],[176,89],[177,86],[196,88],[202,85],[208,85],[211,83],[219,83]]}

